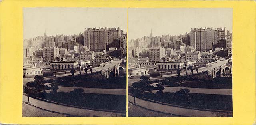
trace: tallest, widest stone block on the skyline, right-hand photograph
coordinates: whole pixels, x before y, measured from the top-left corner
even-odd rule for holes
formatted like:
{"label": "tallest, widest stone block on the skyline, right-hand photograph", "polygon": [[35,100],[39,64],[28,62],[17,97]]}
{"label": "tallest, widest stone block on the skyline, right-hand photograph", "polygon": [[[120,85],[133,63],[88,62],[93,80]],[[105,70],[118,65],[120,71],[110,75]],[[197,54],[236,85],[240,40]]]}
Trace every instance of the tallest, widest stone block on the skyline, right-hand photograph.
{"label": "tallest, widest stone block on the skyline, right-hand photograph", "polygon": [[214,28],[191,28],[190,46],[196,51],[212,50],[214,43]]}

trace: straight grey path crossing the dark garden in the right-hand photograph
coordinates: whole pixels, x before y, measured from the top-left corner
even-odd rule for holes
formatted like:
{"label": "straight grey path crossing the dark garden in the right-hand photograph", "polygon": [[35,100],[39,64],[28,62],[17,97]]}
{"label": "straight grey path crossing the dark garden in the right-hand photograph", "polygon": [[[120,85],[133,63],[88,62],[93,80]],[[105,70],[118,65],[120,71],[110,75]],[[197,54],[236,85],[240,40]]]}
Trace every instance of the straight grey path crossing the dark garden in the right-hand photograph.
{"label": "straight grey path crossing the dark garden in the right-hand photograph", "polygon": [[[164,87],[163,92],[174,93],[176,91],[179,91],[180,89],[189,89],[190,93],[198,93],[198,94],[232,95],[232,89],[205,89],[205,88],[167,87],[167,86]],[[152,93],[156,93],[156,91],[158,90],[152,90]]]}

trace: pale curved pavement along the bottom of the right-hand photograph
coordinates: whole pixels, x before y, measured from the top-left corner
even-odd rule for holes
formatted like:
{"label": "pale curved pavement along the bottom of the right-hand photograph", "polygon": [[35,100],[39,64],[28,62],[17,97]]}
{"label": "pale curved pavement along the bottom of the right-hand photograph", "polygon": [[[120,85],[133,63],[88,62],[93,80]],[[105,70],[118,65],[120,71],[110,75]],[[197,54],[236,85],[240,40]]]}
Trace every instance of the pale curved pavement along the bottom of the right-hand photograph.
{"label": "pale curved pavement along the bottom of the right-hand photograph", "polygon": [[[175,107],[170,105],[162,105],[159,103],[153,103],[142,99],[135,98],[136,105],[144,107],[146,109],[159,111],[163,113],[169,113],[174,115],[186,116],[186,117],[218,117],[219,112],[214,111],[202,111],[196,109],[188,109],[182,107]],[[134,102],[134,97],[128,95],[128,101]],[[129,111],[128,111],[129,112]]]}

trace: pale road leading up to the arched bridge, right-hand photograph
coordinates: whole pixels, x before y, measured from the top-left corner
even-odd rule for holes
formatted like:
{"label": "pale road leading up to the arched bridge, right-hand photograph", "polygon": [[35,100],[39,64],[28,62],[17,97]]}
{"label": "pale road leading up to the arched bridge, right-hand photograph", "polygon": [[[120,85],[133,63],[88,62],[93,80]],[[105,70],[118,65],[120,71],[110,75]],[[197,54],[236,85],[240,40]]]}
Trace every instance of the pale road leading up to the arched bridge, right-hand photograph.
{"label": "pale road leading up to the arched bridge, right-hand photograph", "polygon": [[[218,68],[222,65],[224,65],[225,63],[227,63],[228,60],[223,60],[223,61],[218,61],[218,63],[213,63],[212,66],[210,67],[201,67],[198,68],[198,73],[202,72],[202,71],[211,71],[214,70],[214,68]],[[187,70],[188,75],[192,74],[190,70]],[[196,70],[193,70],[193,73],[196,73]],[[186,72],[182,72],[180,73],[180,75],[186,75]],[[162,77],[174,77],[174,76],[178,76],[177,73],[171,74],[171,75],[162,75]]]}

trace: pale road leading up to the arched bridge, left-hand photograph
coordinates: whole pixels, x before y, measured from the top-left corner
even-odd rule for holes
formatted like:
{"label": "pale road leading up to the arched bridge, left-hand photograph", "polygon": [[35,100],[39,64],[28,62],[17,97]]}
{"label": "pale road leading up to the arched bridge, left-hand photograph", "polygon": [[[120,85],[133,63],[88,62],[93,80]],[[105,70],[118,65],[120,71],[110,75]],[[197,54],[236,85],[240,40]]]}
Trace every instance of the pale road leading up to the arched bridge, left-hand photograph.
{"label": "pale road leading up to the arched bridge, left-hand photograph", "polygon": [[[102,67],[94,67],[92,68],[92,72],[96,72],[96,71],[104,71],[104,70],[107,70],[108,68],[112,68],[116,65],[118,65],[119,63],[122,63],[122,60],[116,60],[116,61],[112,61],[112,63],[108,63],[106,64],[105,66],[102,66]],[[84,71],[81,71],[82,74],[84,73]],[[90,73],[91,71],[88,69],[87,70],[87,73]],[[74,75],[78,75],[80,74],[79,71],[75,72]],[[71,73],[68,73],[68,74],[62,74],[62,75],[56,75],[56,77],[63,77],[63,76],[69,76],[71,75]]]}

